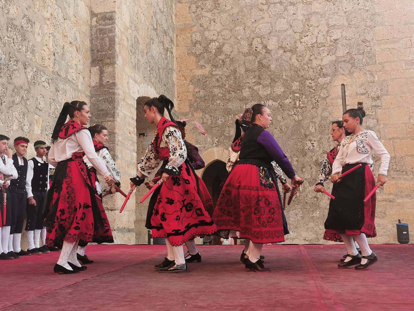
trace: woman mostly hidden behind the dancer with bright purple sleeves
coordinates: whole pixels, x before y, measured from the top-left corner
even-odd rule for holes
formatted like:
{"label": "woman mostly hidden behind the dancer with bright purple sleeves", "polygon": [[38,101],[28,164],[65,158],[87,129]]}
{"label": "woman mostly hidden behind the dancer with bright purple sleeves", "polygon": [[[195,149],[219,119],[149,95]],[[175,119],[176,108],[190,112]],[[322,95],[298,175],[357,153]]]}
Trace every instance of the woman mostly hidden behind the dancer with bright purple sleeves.
{"label": "woman mostly hidden behind the dancer with bright purple sleeves", "polygon": [[[238,114],[236,116],[236,134],[234,135],[234,139],[233,139],[233,143],[231,144],[231,148],[230,148],[230,155],[229,155],[229,159],[227,160],[227,165],[226,165],[226,169],[227,171],[230,173],[231,170],[233,169],[234,165],[237,163],[238,161],[238,157],[240,155],[240,149],[241,149],[241,141],[244,137],[244,134],[246,133],[247,129],[249,128],[246,124],[243,124],[243,115],[242,114]],[[242,133],[243,130],[243,134]],[[272,161],[272,166],[274,169],[274,173],[275,173],[275,177],[277,179],[280,180],[280,182],[282,183],[282,191],[283,193],[288,193],[291,191],[291,187],[288,185],[288,183],[286,182],[286,178],[283,175],[282,169],[280,168],[279,165],[277,165],[276,162]],[[278,197],[280,198],[280,206],[282,207],[282,218],[283,218],[283,224],[284,224],[284,234],[289,234],[289,229],[287,228],[287,222],[286,222],[286,217],[284,215],[284,206],[283,206],[283,202],[282,202],[282,196],[280,195],[280,191],[279,191],[279,185],[277,182],[275,182],[275,186],[276,186],[276,190],[278,193]],[[231,230],[229,232],[229,236],[231,238],[240,238],[240,232],[236,232]],[[240,255],[240,262],[244,265],[246,265],[246,260],[248,259],[248,249],[249,249],[249,245],[250,245],[250,239],[246,238],[244,240],[244,250]],[[265,256],[260,255],[260,260],[262,260],[262,262],[265,262]]]}

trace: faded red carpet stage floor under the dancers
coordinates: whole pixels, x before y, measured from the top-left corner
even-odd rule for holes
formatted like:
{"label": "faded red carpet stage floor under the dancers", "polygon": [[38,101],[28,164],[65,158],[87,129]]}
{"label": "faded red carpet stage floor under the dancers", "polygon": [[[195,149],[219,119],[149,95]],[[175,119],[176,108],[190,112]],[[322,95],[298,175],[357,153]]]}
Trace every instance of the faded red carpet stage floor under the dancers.
{"label": "faded red carpet stage floor under the dancers", "polygon": [[242,245],[199,246],[187,274],[154,270],[165,245],[89,245],[95,263],[53,275],[59,253],[0,261],[3,310],[413,310],[414,245],[372,245],[365,271],[338,269],[344,245],[265,245],[271,273],[244,270]]}

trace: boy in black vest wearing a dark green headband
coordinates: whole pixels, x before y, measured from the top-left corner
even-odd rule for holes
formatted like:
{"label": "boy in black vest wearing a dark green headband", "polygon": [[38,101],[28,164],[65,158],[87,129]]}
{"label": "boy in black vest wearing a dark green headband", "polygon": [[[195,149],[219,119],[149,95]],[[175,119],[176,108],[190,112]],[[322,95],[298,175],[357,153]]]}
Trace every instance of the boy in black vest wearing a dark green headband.
{"label": "boy in black vest wearing a dark green headband", "polygon": [[39,247],[40,233],[43,229],[43,205],[48,190],[48,163],[43,161],[46,155],[46,143],[44,141],[35,141],[34,150],[36,156],[28,161],[26,191],[29,205],[27,211],[27,251],[31,254],[40,255],[50,253],[49,250]]}

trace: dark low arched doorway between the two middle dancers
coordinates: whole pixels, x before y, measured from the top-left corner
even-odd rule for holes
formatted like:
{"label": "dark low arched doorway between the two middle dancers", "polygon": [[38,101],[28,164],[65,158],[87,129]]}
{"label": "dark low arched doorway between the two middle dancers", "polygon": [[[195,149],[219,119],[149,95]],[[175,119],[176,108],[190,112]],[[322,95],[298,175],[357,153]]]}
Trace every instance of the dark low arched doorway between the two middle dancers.
{"label": "dark low arched doorway between the two middle dancers", "polygon": [[[221,160],[214,160],[212,163],[207,165],[201,177],[207,187],[207,190],[211,194],[214,208],[216,207],[221,189],[223,189],[224,182],[226,182],[228,174],[229,173],[226,170],[226,163]],[[209,236],[203,238],[203,244],[221,245],[221,242],[218,236]]]}

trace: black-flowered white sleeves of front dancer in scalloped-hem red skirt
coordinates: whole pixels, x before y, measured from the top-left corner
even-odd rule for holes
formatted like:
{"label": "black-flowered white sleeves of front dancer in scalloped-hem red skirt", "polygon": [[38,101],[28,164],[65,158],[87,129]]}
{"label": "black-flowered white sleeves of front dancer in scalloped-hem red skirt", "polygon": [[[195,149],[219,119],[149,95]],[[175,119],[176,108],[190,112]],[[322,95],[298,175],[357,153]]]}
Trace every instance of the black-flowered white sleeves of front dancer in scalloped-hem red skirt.
{"label": "black-flowered white sleeves of front dancer in scalloped-hem red skirt", "polygon": [[[187,158],[187,148],[180,131],[174,126],[167,126],[162,134],[160,148],[168,148],[170,150],[170,157],[166,170],[178,173],[178,168],[184,163]],[[149,177],[151,172],[155,170],[161,160],[157,157],[154,150],[154,139],[149,144],[144,156],[138,161],[138,171],[134,178],[140,180]],[[170,174],[171,175],[171,174]]]}

